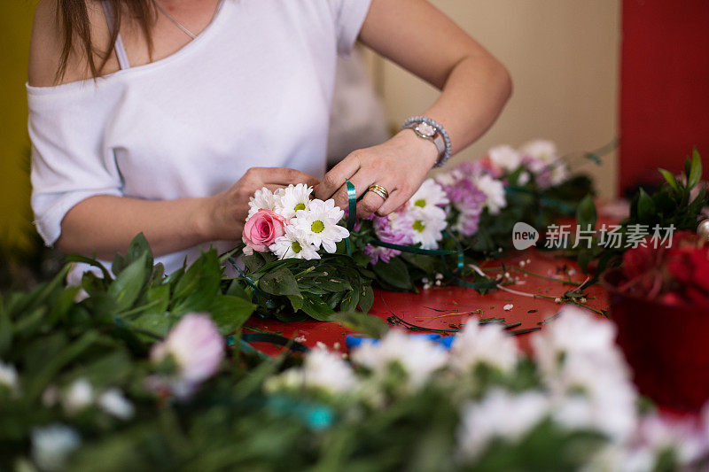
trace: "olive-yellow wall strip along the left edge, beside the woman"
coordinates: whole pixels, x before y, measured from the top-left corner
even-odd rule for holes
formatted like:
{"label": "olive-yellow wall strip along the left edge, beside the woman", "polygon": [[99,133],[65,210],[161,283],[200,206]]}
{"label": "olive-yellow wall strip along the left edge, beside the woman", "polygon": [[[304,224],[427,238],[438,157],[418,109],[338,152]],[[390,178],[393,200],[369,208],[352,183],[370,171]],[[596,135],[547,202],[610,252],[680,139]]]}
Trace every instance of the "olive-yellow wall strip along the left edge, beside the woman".
{"label": "olive-yellow wall strip along the left edge, beside the woman", "polygon": [[0,7],[0,244],[23,244],[29,218],[27,52],[35,0]]}

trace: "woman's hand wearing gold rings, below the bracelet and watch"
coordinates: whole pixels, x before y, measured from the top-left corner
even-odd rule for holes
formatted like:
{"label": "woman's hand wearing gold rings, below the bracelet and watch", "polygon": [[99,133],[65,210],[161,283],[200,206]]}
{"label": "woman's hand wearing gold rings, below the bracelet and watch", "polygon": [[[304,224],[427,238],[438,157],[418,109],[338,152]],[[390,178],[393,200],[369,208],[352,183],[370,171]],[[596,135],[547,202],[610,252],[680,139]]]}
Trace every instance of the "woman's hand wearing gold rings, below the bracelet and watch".
{"label": "woman's hand wearing gold rings, below the bracelet and watch", "polygon": [[[372,213],[384,216],[409,200],[425,181],[436,159],[435,144],[404,129],[385,143],[352,152],[325,174],[323,182],[316,186],[316,197],[334,198],[335,205],[347,208],[345,179],[349,179],[357,197],[366,192],[357,202],[357,216],[365,218]],[[374,184],[389,192],[386,200],[367,191]]]}

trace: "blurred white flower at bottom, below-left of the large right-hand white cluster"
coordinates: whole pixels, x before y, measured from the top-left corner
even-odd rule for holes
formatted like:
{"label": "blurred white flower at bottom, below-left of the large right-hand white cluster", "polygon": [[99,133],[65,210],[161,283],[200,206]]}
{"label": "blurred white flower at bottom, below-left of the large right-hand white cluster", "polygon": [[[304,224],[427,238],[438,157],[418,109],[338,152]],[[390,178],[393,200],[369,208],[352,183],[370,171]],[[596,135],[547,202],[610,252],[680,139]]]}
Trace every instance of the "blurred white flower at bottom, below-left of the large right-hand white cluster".
{"label": "blurred white flower at bottom, below-left of the large right-hand white cluster", "polygon": [[464,407],[458,429],[458,452],[474,459],[496,437],[516,442],[549,413],[549,400],[541,392],[526,391],[517,396],[496,389],[479,403]]}

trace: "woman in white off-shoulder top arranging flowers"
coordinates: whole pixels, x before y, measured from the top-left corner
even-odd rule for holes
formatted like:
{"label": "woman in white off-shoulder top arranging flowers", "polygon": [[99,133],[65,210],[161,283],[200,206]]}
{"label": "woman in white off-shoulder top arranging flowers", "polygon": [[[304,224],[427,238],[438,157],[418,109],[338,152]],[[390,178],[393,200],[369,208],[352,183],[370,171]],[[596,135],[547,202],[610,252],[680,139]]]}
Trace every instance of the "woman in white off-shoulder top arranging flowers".
{"label": "woman in white off-shoulder top arranging flowers", "polygon": [[[358,38],[442,93],[319,182],[335,59]],[[366,192],[357,213],[385,215],[492,125],[510,89],[425,0],[40,0],[35,224],[47,244],[102,259],[142,231],[170,271],[233,246],[264,186],[305,182],[344,207],[349,179]]]}

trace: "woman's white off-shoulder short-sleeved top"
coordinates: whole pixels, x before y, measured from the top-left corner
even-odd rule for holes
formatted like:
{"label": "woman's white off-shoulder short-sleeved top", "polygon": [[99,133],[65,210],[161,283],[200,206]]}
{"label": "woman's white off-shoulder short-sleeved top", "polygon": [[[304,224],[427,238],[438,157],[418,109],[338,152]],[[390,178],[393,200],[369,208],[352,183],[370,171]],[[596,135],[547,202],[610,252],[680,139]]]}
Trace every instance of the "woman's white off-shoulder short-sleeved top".
{"label": "woman's white off-shoulder short-sleeved top", "polygon": [[[253,166],[322,176],[336,57],[352,49],[369,7],[223,0],[168,58],[97,81],[27,85],[32,208],[45,243],[95,195],[206,197]],[[208,246],[158,260],[169,272]]]}

